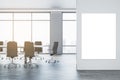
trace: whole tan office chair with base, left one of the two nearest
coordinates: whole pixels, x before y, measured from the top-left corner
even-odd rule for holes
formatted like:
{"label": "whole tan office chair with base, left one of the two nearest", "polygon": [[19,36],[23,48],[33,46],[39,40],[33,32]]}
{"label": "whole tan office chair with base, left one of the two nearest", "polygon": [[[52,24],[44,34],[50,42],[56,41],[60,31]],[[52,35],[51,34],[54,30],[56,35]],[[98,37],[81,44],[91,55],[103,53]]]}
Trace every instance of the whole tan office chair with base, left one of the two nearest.
{"label": "whole tan office chair with base, left one of the two nearest", "polygon": [[[13,63],[13,58],[17,57],[17,43],[15,41],[9,41],[7,43],[7,57],[12,59],[11,63],[8,64],[8,68],[17,67],[17,64]],[[4,67],[6,67],[5,65]]]}

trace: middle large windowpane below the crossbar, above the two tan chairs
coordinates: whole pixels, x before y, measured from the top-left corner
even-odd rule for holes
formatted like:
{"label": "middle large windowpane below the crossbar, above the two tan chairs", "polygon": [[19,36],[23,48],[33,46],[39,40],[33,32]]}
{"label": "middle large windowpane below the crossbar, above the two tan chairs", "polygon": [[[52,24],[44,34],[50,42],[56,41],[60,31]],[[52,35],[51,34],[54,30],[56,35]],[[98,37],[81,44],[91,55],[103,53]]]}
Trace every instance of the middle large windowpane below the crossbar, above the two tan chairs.
{"label": "middle large windowpane below the crossbar, above the two tan chairs", "polygon": [[31,41],[31,22],[14,21],[14,40],[23,46],[25,41]]}

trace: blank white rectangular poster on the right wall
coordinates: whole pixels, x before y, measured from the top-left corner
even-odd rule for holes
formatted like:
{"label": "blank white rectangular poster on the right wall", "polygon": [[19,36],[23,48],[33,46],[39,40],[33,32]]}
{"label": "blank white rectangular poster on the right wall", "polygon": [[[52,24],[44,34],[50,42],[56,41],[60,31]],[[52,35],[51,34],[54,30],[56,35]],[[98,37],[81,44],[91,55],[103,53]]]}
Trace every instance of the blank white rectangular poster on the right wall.
{"label": "blank white rectangular poster on the right wall", "polygon": [[82,14],[82,59],[116,59],[116,14]]}

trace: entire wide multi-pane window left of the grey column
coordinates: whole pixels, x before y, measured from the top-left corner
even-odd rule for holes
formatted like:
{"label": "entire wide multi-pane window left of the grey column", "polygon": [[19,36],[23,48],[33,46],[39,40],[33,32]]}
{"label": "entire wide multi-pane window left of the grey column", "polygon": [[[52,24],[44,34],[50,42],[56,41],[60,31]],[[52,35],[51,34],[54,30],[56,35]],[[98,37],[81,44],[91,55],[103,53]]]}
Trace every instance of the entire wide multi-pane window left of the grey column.
{"label": "entire wide multi-pane window left of the grey column", "polygon": [[23,46],[24,41],[42,41],[43,53],[50,44],[50,13],[0,13],[0,40],[14,40]]}

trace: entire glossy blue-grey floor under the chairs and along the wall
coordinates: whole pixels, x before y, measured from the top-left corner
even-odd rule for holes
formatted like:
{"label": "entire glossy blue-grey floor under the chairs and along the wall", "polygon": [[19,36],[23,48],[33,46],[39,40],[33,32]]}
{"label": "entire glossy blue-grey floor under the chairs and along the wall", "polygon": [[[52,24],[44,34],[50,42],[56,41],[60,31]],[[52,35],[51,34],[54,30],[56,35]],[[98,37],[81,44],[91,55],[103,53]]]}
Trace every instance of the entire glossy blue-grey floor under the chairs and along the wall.
{"label": "entire glossy blue-grey floor under the chairs and along the wall", "polygon": [[[4,56],[2,56],[4,57]],[[24,68],[24,60],[16,59],[15,63],[20,67],[10,68],[4,67],[10,61],[4,58],[0,62],[0,80],[120,80],[120,71],[77,71],[76,56],[62,55],[55,57],[58,63],[46,63],[49,55],[41,55],[41,58],[33,59],[39,67]]]}

